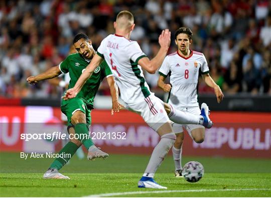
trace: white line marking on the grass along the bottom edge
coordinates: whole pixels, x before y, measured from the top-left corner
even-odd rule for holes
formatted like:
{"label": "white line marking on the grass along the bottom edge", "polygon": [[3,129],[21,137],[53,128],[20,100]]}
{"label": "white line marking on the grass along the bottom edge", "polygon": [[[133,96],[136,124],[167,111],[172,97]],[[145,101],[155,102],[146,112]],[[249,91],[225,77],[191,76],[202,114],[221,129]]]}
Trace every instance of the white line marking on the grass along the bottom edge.
{"label": "white line marking on the grass along the bottom edge", "polygon": [[240,188],[240,189],[133,191],[133,192],[113,192],[113,193],[104,193],[104,194],[91,194],[85,197],[103,197],[103,196],[118,196],[118,195],[127,195],[127,194],[170,193],[170,192],[212,192],[212,191],[247,191],[247,190],[271,190],[271,189],[270,188]]}

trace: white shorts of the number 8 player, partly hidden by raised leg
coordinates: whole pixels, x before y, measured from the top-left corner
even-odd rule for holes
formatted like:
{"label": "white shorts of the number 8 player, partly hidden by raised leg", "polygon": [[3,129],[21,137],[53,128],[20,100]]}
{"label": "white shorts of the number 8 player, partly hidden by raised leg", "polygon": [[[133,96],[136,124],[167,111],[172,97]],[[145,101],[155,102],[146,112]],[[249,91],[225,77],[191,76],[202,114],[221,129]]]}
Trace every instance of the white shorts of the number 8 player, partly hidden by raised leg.
{"label": "white shorts of the number 8 player, partly hidden by raised leg", "polygon": [[[194,114],[194,115],[200,115],[200,113],[201,113],[199,107],[178,108],[178,110],[180,110],[182,112],[187,112],[187,113],[190,113],[190,114]],[[191,131],[193,129],[204,128],[204,127],[202,125],[177,124],[177,123],[174,123],[172,125],[172,128],[173,128],[174,133],[183,133],[184,132],[183,128],[185,128],[187,130],[187,132],[189,133],[189,135],[191,136]]]}

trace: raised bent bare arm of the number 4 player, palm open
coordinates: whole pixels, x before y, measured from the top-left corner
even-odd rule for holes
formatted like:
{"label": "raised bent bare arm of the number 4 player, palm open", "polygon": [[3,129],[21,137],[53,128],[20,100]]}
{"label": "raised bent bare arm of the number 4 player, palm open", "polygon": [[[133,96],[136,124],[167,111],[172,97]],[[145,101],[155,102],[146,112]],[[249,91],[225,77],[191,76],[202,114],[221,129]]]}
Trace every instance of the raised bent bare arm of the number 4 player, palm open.
{"label": "raised bent bare arm of the number 4 player, palm open", "polygon": [[163,30],[159,36],[160,49],[157,55],[152,60],[150,60],[148,57],[141,58],[139,60],[139,65],[141,65],[142,68],[149,73],[155,73],[167,55],[170,46],[170,37],[171,32],[168,29]]}

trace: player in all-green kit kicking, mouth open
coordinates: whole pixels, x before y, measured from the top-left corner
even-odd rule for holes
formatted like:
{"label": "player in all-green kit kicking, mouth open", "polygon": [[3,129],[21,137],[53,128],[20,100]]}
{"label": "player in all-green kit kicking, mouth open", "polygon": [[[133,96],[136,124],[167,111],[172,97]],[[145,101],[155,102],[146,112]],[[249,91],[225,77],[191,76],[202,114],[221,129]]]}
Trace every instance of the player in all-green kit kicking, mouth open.
{"label": "player in all-green kit kicking, mouth open", "polygon": [[[71,78],[69,88],[72,88],[96,53],[91,45],[91,40],[85,34],[77,34],[73,40],[73,44],[78,53],[69,55],[58,66],[54,66],[37,76],[28,77],[28,83],[35,84],[38,81],[51,79],[61,73],[69,72]],[[74,131],[75,134],[78,134],[76,136],[78,139],[71,138],[70,142],[63,147],[59,154],[65,157],[56,158],[45,172],[44,178],[69,179],[69,177],[60,174],[58,170],[69,161],[82,144],[88,149],[88,160],[108,157],[108,154],[97,148],[89,138],[89,126],[91,124],[90,112],[93,109],[94,97],[104,77],[107,78],[112,97],[111,114],[123,108],[123,106],[118,103],[118,87],[114,82],[111,70],[106,62],[103,61],[94,71],[94,76],[86,81],[84,87],[75,98],[69,101],[61,101],[61,111],[67,116],[68,123],[74,128],[74,130],[68,131]]]}

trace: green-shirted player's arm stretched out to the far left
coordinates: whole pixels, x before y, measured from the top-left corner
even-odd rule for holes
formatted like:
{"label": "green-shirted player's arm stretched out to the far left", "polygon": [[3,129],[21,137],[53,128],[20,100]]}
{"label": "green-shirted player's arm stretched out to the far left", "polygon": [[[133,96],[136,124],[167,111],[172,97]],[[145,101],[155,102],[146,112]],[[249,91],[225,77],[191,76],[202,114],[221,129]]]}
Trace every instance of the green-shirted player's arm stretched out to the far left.
{"label": "green-shirted player's arm stretched out to the far left", "polygon": [[60,71],[59,67],[54,66],[39,75],[29,76],[27,78],[27,82],[30,84],[36,84],[38,81],[51,79],[51,78],[54,78],[60,74],[61,74],[61,71]]}

